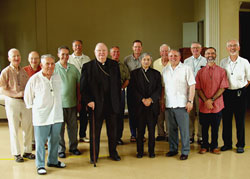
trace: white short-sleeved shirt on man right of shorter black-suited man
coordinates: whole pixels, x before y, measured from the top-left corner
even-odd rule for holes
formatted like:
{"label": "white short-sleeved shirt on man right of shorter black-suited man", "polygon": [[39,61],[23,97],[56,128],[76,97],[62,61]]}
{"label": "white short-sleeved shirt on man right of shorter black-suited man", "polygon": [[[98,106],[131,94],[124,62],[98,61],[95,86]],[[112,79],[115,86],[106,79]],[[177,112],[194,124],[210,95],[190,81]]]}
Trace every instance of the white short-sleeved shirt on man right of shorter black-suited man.
{"label": "white short-sleeved shirt on man right of shorter black-suited man", "polygon": [[189,86],[195,84],[191,68],[180,62],[174,70],[171,65],[165,67],[162,75],[166,108],[185,107],[189,97]]}

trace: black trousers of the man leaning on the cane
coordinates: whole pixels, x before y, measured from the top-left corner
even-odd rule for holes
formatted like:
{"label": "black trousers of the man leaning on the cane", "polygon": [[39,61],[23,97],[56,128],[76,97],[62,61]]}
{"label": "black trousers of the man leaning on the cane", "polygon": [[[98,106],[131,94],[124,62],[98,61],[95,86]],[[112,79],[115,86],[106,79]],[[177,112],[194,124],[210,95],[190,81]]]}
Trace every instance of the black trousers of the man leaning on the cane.
{"label": "black trousers of the man leaning on the cane", "polygon": [[[92,116],[91,116],[92,118]],[[114,157],[117,154],[116,151],[116,119],[117,115],[113,113],[106,112],[103,110],[102,115],[99,118],[95,118],[95,156],[96,160],[99,156],[100,149],[100,135],[102,129],[102,123],[106,120],[106,129],[108,135],[108,145],[109,145],[109,155]],[[93,160],[93,119],[90,119],[90,159]]]}

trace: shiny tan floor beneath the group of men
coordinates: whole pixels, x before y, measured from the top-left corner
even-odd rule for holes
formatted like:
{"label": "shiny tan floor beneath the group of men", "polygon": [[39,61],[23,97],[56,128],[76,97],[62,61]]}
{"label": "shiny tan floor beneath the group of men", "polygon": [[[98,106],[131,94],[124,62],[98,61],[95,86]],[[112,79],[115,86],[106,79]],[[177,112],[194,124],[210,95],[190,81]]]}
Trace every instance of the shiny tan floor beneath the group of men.
{"label": "shiny tan floor beneath the group of men", "polygon": [[[234,125],[235,145],[235,125]],[[20,130],[21,137],[21,130]],[[80,156],[72,156],[67,153],[66,159],[61,159],[67,167],[64,169],[47,168],[46,176],[36,173],[35,161],[25,160],[24,163],[16,163],[10,154],[8,124],[0,123],[0,175],[1,179],[26,179],[26,178],[81,178],[81,179],[248,179],[250,178],[250,111],[246,119],[246,148],[244,154],[237,154],[235,148],[232,151],[223,152],[220,155],[207,153],[198,154],[199,145],[191,145],[189,159],[180,161],[179,155],[165,157],[169,146],[167,142],[156,142],[156,158],[145,155],[142,159],[136,158],[136,144],[129,142],[128,121],[125,120],[123,140],[125,145],[118,146],[118,152],[122,158],[116,162],[108,158],[108,147],[105,127],[102,131],[100,159],[97,167],[89,163],[89,145],[79,143],[79,149],[83,152]],[[67,139],[67,137],[66,137]],[[146,143],[147,144],[147,143]],[[221,127],[219,132],[219,146],[221,146]],[[145,145],[146,146],[146,145]],[[145,153],[147,147],[145,147]],[[146,153],[147,154],[147,153]]]}

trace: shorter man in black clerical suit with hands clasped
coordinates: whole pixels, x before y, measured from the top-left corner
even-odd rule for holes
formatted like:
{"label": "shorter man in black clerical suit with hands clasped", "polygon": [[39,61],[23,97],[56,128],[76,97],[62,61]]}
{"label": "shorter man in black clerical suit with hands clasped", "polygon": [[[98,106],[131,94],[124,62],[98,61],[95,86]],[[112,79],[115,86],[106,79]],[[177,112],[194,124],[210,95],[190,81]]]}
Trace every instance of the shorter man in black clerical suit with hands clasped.
{"label": "shorter man in black clerical suit with hands clasped", "polygon": [[150,68],[152,58],[144,54],[141,68],[131,72],[130,85],[134,92],[137,127],[137,158],[143,157],[143,136],[147,126],[149,157],[154,158],[155,126],[160,113],[161,74]]}

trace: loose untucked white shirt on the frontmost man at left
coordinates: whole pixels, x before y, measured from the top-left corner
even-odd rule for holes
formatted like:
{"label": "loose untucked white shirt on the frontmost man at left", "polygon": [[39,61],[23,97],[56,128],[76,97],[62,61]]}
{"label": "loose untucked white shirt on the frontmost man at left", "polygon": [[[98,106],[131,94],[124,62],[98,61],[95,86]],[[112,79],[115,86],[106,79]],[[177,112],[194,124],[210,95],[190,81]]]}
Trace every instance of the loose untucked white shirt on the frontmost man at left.
{"label": "loose untucked white shirt on the frontmost man at left", "polygon": [[58,74],[54,73],[49,80],[42,71],[29,79],[24,90],[24,102],[27,108],[32,108],[34,126],[63,122],[61,83]]}

